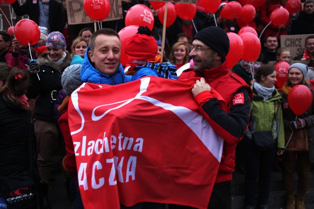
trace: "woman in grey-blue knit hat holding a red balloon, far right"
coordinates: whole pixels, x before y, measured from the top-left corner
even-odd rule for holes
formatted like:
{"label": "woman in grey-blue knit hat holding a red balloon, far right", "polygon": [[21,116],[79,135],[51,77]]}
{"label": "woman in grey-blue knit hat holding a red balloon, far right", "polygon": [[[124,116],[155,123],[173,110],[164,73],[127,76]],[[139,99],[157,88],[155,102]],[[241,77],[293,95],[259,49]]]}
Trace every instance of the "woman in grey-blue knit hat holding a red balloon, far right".
{"label": "woman in grey-blue knit hat holding a red balloon, far right", "polygon": [[[314,100],[305,113],[297,116],[298,119],[295,119],[296,115],[288,105],[288,93],[296,85],[305,85],[314,95],[311,83],[305,79],[307,71],[308,66],[304,64],[292,64],[288,70],[288,80],[280,93],[283,98],[282,109],[286,138],[286,151],[283,155],[283,181],[287,196],[286,209],[305,209],[304,201],[310,184],[311,162],[314,162],[314,144],[312,140],[309,140],[308,151],[303,150],[303,148],[300,150],[300,147],[296,146],[296,141],[304,141],[306,138],[313,139],[314,137]],[[293,134],[288,143],[292,131]],[[298,172],[296,196],[293,181],[295,171]]]}

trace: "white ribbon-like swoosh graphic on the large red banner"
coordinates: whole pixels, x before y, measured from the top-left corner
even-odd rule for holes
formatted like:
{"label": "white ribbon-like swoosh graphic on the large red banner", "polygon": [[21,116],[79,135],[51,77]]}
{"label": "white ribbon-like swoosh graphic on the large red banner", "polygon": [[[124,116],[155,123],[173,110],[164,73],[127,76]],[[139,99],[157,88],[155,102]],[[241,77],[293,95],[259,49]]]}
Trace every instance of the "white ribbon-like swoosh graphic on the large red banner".
{"label": "white ribbon-like swoosh graphic on the large red banner", "polygon": [[[209,149],[209,151],[212,153],[212,155],[215,156],[217,161],[220,162],[221,155],[222,155],[223,139],[216,132],[214,132],[214,130],[209,126],[208,121],[202,115],[200,115],[194,111],[191,111],[188,108],[185,108],[182,106],[174,106],[174,105],[168,104],[168,103],[163,103],[163,102],[161,102],[157,99],[154,99],[152,97],[149,97],[149,96],[142,96],[142,94],[147,91],[149,82],[150,82],[150,77],[141,79],[140,92],[137,93],[134,98],[95,107],[93,112],[92,112],[92,120],[98,121],[101,118],[103,118],[110,111],[119,109],[120,107],[123,107],[123,106],[129,104],[134,99],[142,99],[142,100],[145,100],[145,101],[152,103],[153,105],[155,105],[157,107],[161,107],[164,110],[171,111],[175,115],[180,117],[180,119],[182,119],[183,122],[196,134],[196,136],[199,139],[201,139],[203,144]],[[74,105],[74,107],[78,111],[79,115],[82,117],[82,125],[81,125],[80,129],[78,129],[77,131],[71,132],[71,135],[80,132],[83,128],[83,123],[84,123],[84,117],[78,109],[77,91],[75,91],[75,94],[72,93],[71,96],[72,96],[72,102],[77,103]],[[73,96],[75,96],[75,99],[73,99]],[[112,104],[118,104],[118,103],[122,103],[122,102],[124,102],[124,103],[115,107],[115,108],[111,108],[111,109],[107,110],[101,116],[95,116],[95,111],[98,108],[103,107],[103,106],[112,105]]]}

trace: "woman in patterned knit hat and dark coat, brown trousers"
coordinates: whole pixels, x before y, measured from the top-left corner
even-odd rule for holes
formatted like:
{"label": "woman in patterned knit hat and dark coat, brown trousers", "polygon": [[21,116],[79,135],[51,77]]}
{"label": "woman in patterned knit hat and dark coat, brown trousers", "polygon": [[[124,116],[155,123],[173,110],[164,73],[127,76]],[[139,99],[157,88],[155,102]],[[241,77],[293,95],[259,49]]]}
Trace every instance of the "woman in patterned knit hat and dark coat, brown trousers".
{"label": "woman in patterned knit hat and dark coat, brown trousers", "polygon": [[56,31],[48,35],[47,52],[42,53],[36,63],[29,65],[30,86],[26,96],[37,98],[34,109],[35,136],[37,139],[37,163],[42,192],[40,208],[51,208],[47,198],[51,178],[52,155],[58,146],[59,133],[54,123],[53,106],[61,86],[61,74],[70,66],[72,57],[65,51],[65,38]]}

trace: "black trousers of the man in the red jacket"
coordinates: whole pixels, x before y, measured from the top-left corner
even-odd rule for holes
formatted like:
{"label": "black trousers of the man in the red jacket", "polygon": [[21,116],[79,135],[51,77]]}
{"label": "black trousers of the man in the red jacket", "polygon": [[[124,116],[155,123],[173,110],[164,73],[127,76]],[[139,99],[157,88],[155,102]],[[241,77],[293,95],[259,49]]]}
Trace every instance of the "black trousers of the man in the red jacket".
{"label": "black trousers of the man in the red jacket", "polygon": [[[216,183],[212,189],[208,209],[231,209],[231,181]],[[169,209],[194,209],[189,206],[169,204]]]}

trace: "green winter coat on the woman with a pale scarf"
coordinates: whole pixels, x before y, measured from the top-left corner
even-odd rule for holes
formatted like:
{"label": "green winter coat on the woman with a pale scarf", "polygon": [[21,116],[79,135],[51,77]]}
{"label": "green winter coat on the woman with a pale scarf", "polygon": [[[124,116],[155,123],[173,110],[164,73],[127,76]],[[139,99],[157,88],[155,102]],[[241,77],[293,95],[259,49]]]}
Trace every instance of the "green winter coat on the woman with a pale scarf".
{"label": "green winter coat on the woman with a pale scarf", "polygon": [[[263,99],[253,88],[253,101],[251,103],[251,121],[249,130],[254,132],[273,130],[273,138],[277,136],[277,149],[285,150],[285,129],[283,112],[281,108],[282,97],[275,89],[272,95],[267,99]],[[276,109],[276,117],[274,119]],[[253,121],[252,121],[253,120]],[[271,124],[272,127],[271,127]]]}

